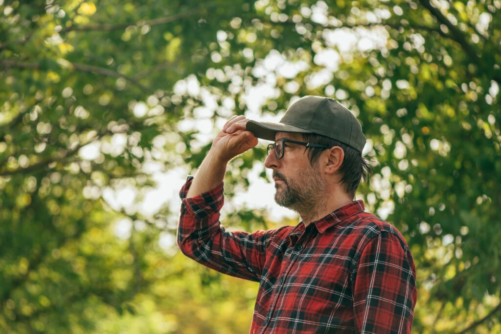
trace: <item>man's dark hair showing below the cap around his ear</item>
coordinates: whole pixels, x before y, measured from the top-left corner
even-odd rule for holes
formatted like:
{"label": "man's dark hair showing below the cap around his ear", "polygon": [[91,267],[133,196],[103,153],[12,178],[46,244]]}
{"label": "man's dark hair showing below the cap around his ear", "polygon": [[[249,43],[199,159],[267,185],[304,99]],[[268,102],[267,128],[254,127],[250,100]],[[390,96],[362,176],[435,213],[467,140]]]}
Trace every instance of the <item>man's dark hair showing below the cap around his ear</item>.
{"label": "man's dark hair showing below the cap around his ear", "polygon": [[[363,157],[362,153],[357,149],[320,134],[304,133],[303,139],[307,142],[329,147],[339,146],[343,149],[345,153],[344,159],[336,174],[342,175],[341,184],[344,184],[346,193],[354,199],[360,181],[366,181],[372,175],[372,166],[369,164],[369,160]],[[307,149],[309,149],[310,164],[313,166],[318,162],[320,154],[325,148],[307,147]]]}

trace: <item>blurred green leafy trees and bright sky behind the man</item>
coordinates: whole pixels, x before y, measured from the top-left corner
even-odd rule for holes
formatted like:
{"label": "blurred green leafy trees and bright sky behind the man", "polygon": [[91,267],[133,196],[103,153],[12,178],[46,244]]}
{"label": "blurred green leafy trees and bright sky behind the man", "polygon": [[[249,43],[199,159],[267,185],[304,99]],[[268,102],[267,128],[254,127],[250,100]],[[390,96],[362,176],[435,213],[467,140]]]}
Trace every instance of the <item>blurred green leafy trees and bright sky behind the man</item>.
{"label": "blurred green leafy trees and bright sky behind the man", "polygon": [[[0,0],[0,332],[248,332],[258,284],[180,253],[178,191],[231,115],[311,94],[362,124],[413,331],[501,333],[500,64],[500,0]],[[230,230],[298,223],[265,154]]]}

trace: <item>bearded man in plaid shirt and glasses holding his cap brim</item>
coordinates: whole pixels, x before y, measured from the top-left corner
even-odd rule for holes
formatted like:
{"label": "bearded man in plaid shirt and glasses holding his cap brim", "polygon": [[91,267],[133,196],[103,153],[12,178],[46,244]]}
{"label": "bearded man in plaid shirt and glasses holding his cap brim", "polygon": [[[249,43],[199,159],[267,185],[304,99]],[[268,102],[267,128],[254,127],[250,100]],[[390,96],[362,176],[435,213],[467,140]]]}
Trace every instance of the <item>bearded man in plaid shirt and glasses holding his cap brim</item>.
{"label": "bearded man in plaid shirt and glasses holding his cap brim", "polygon": [[[268,146],[275,201],[299,213],[297,226],[254,233],[219,224],[226,164]],[[222,273],[260,282],[251,333],[410,333],[416,273],[390,224],[354,201],[370,167],[365,136],[338,101],[306,96],[280,123],[233,116],[215,137],[196,177],[180,192],[177,243]]]}

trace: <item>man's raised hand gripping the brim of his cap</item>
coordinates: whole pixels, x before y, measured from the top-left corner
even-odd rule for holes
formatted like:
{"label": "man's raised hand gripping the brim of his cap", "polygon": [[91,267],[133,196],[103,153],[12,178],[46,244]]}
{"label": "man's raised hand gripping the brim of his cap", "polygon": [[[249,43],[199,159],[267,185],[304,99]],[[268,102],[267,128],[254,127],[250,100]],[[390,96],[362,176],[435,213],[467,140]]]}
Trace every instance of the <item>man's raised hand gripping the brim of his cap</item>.
{"label": "man's raised hand gripping the brim of his cap", "polygon": [[238,154],[255,147],[258,138],[245,129],[245,116],[232,116],[212,142],[213,154],[221,161],[229,161]]}

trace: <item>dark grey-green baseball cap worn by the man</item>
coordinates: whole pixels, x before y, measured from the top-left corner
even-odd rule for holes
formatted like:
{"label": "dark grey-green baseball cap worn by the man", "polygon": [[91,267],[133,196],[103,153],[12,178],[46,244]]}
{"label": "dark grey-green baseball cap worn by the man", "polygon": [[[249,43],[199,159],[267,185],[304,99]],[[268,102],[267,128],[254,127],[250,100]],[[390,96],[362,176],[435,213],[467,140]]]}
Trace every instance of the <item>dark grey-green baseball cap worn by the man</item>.
{"label": "dark grey-green baseball cap worn by the man", "polygon": [[304,96],[294,102],[279,123],[248,120],[248,131],[275,141],[277,132],[316,133],[345,143],[362,152],[365,136],[350,110],[335,99]]}

